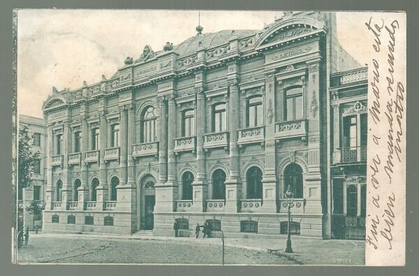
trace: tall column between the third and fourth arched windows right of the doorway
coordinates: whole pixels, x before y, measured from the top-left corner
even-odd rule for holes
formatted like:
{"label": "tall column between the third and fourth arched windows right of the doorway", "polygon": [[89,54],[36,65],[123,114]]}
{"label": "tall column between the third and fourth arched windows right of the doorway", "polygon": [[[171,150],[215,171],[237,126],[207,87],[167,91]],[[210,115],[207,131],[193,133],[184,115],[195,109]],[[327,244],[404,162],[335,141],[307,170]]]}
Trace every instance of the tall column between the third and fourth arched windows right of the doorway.
{"label": "tall column between the third and fourth arched windows right of the doorway", "polygon": [[262,177],[262,212],[277,212],[277,175],[275,170],[275,78],[267,75],[265,80],[265,172]]}

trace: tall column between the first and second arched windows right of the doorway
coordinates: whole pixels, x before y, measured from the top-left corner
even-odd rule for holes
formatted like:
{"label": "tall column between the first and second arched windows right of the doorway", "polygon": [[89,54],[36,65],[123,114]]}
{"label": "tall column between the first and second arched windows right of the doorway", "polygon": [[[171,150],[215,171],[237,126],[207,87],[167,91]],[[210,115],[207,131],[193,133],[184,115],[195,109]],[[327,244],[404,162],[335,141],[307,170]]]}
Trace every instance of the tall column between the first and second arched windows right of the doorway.
{"label": "tall column between the first and second arched windows right of the doorway", "polygon": [[192,210],[203,212],[205,210],[205,198],[207,195],[207,177],[205,174],[205,152],[203,137],[205,131],[205,94],[203,87],[196,87],[196,162],[198,171],[196,180],[192,183]]}

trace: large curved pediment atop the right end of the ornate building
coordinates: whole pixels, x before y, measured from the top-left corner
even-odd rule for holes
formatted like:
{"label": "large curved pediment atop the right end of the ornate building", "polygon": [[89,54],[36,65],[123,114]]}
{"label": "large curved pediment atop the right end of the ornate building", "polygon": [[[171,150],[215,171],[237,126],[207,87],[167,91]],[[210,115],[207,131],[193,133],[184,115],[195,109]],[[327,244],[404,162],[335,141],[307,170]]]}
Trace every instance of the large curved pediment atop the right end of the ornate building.
{"label": "large curved pediment atop the right end of the ornate building", "polygon": [[316,30],[325,29],[324,21],[316,20],[313,17],[295,16],[288,20],[279,21],[269,27],[256,41],[255,48],[285,41],[287,38],[304,36]]}

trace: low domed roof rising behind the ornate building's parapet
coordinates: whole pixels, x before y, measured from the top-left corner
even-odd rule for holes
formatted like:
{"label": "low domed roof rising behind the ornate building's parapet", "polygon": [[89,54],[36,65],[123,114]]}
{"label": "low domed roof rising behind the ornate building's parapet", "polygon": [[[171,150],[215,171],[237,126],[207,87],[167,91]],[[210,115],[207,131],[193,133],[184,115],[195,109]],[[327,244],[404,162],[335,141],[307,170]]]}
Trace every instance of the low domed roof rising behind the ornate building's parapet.
{"label": "low domed roof rising behind the ornate building's parapet", "polygon": [[222,45],[228,43],[230,38],[237,36],[238,38],[244,38],[246,36],[251,36],[256,34],[255,30],[223,30],[216,33],[210,34],[198,34],[192,36],[191,38],[186,39],[186,41],[180,43],[179,45],[173,46],[173,51],[177,52],[179,56],[184,57],[191,55],[196,52],[196,49],[199,46],[199,43],[203,43],[204,48],[212,48],[217,45]]}

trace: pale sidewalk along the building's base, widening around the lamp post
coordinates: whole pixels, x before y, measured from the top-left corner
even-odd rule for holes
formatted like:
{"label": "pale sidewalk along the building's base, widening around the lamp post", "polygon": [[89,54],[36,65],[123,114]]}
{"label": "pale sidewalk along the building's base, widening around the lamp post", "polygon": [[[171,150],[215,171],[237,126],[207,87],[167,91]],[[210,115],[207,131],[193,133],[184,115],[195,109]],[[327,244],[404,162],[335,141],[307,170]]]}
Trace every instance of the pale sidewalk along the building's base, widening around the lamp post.
{"label": "pale sidewalk along the building's base, widening around the lamp post", "polygon": [[[174,238],[161,236],[142,235],[97,235],[97,234],[33,234],[31,238],[110,238],[126,240],[167,240],[170,242],[189,243],[195,242],[204,245],[221,245],[220,238]],[[295,264],[302,265],[335,265],[335,266],[362,266],[365,264],[365,241],[363,240],[322,240],[292,236],[294,253],[285,253],[286,237],[278,239],[251,239],[251,238],[226,238],[226,247],[251,249],[271,254],[279,254]]]}

